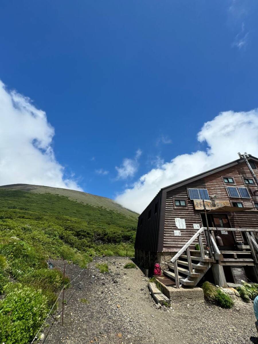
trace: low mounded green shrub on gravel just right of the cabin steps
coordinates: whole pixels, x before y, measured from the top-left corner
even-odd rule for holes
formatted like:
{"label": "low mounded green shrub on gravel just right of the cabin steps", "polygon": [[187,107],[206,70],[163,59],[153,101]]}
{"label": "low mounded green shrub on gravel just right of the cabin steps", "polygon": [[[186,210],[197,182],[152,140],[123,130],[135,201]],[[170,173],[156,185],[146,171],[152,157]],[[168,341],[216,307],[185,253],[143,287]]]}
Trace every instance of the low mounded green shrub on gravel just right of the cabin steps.
{"label": "low mounded green shrub on gravel just right of the cabin steps", "polygon": [[230,295],[224,293],[221,289],[210,282],[204,282],[202,285],[203,293],[208,301],[217,304],[221,308],[232,308],[234,302]]}

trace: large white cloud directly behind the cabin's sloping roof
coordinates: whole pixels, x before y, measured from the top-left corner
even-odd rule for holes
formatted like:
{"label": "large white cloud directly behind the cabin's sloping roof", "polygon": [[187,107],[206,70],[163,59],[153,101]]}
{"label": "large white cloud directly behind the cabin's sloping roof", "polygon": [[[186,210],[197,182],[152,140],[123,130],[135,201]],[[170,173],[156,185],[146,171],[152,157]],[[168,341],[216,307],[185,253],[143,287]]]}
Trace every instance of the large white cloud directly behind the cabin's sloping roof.
{"label": "large white cloud directly behind the cabin's sloping roof", "polygon": [[162,187],[238,159],[237,152],[258,155],[258,109],[221,112],[197,134],[207,149],[182,154],[142,175],[116,197],[126,208],[141,213]]}

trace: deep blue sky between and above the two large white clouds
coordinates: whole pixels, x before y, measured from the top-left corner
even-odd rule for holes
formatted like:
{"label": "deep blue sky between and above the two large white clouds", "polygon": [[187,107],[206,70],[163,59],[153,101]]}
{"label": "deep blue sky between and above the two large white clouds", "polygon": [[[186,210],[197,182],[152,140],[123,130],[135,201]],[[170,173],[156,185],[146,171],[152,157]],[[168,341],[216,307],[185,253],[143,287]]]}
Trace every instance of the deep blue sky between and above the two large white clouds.
{"label": "deep blue sky between and above the two large white clouds", "polygon": [[0,79],[45,111],[63,180],[115,198],[178,155],[209,154],[196,136],[220,112],[258,107],[257,10],[255,0],[1,1]]}

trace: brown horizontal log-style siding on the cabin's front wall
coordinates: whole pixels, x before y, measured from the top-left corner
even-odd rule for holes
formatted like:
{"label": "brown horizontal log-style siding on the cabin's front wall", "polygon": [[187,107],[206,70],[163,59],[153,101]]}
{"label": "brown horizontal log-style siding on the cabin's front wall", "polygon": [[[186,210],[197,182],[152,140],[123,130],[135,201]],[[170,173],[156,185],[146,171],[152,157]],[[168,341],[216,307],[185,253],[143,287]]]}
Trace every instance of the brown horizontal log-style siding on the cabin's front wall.
{"label": "brown horizontal log-style siding on the cabin's front wall", "polygon": [[[255,173],[258,176],[258,170],[255,170]],[[244,184],[242,177],[252,178],[251,172],[244,162],[231,168],[225,169],[222,172],[211,174],[187,186],[185,185],[178,189],[168,191],[166,195],[163,251],[178,251],[178,249],[181,248],[185,243],[187,243],[187,241],[196,232],[196,230],[193,228],[193,224],[201,224],[200,211],[194,210],[193,202],[191,200],[188,200],[188,209],[174,209],[173,207],[172,197],[188,198],[187,188],[206,188],[209,195],[217,195],[218,200],[241,201],[243,202],[244,206],[253,206],[250,199],[228,197],[225,188],[226,185],[224,185],[221,178],[221,176],[225,175],[233,176],[236,182],[236,186],[244,187],[247,186]],[[257,189],[257,187],[253,186],[251,187],[251,189]],[[251,195],[251,192],[249,193]],[[251,199],[253,201],[258,201],[257,196],[251,195]],[[227,215],[231,227],[258,228],[258,211],[237,213],[235,215],[233,213],[228,213]],[[174,236],[173,231],[178,230],[178,228],[175,226],[175,217],[184,218],[186,222],[186,229],[180,229],[181,236]],[[236,232],[236,240],[242,240],[241,234],[239,232]],[[194,248],[194,244],[191,248]]]}

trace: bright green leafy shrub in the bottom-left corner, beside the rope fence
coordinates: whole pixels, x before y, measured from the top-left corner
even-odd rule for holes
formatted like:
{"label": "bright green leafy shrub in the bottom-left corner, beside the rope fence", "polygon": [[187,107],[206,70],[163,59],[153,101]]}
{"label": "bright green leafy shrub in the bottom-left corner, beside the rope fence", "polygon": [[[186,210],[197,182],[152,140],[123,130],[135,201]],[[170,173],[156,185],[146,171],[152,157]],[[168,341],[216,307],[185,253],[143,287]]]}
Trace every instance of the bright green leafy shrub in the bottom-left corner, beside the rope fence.
{"label": "bright green leafy shrub in the bottom-left corner, beside the rope fence", "polygon": [[0,343],[28,344],[41,326],[49,307],[40,290],[8,283],[0,301]]}

